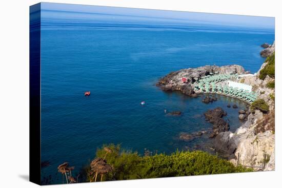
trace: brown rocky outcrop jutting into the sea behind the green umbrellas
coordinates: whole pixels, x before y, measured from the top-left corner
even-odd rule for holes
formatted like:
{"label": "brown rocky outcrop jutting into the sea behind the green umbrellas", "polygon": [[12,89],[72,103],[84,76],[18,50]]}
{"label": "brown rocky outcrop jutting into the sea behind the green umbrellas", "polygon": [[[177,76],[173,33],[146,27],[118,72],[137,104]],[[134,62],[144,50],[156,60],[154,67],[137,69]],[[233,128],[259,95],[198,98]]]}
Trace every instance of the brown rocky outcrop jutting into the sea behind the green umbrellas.
{"label": "brown rocky outcrop jutting into the sea behind the green umbrellas", "polygon": [[[193,83],[202,76],[210,75],[210,73],[218,74],[243,74],[246,73],[242,66],[204,66],[198,68],[182,69],[169,73],[157,82],[157,86],[168,91],[182,91],[186,95],[194,96]],[[182,78],[186,78],[185,81]]]}

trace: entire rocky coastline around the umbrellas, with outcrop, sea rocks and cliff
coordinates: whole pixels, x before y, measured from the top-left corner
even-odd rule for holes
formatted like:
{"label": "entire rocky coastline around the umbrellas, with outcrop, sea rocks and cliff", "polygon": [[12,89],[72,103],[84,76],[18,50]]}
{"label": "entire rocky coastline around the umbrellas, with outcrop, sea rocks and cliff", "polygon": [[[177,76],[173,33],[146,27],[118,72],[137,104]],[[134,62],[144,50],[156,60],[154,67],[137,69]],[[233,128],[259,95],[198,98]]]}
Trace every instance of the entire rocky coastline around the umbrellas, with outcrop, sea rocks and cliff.
{"label": "entire rocky coastline around the umbrellas, with outcrop, sea rocks and cliff", "polygon": [[[266,48],[260,52],[263,57],[274,55],[275,43],[273,45],[263,44]],[[259,74],[269,64],[267,59],[259,71],[254,75],[247,75],[248,72],[238,65],[230,66],[204,66],[198,68],[182,69],[171,72],[157,82],[157,86],[164,91],[181,91],[191,97],[197,97],[194,91],[194,83],[203,76],[210,74],[245,74],[246,76],[237,79],[237,82],[246,83],[252,86],[252,91],[258,93],[258,99],[262,99],[269,107],[264,112],[259,109],[238,109],[238,118],[245,122],[235,131],[229,131],[229,124],[222,118],[226,113],[219,107],[207,111],[204,115],[207,121],[213,124],[210,138],[213,139],[213,147],[216,151],[223,152],[235,165],[241,164],[251,166],[255,170],[275,170],[275,130],[274,130],[274,96],[275,89],[269,87],[270,82],[275,79],[266,76],[260,79]],[[182,78],[185,77],[185,82]],[[209,103],[216,98],[206,97],[203,102]],[[228,107],[232,107],[228,104]],[[233,107],[235,108],[235,107]],[[206,132],[205,132],[206,133]],[[204,132],[180,134],[180,139],[191,140],[201,136]]]}

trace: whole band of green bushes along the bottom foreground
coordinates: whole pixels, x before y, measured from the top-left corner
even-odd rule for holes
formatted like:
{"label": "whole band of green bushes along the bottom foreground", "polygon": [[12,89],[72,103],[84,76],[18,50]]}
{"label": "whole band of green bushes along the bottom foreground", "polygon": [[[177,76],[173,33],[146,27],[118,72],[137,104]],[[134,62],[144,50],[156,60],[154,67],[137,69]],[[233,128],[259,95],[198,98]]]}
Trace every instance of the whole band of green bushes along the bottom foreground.
{"label": "whole band of green bushes along the bottom foreground", "polygon": [[[104,149],[103,149],[104,148]],[[155,154],[140,156],[137,152],[125,151],[120,145],[104,145],[96,152],[97,158],[104,158],[112,166],[112,172],[105,174],[103,180],[126,180],[172,176],[191,176],[235,172],[252,172],[243,166],[234,166],[203,151],[179,152],[171,155]],[[112,152],[106,154],[105,148]],[[88,168],[90,170],[90,166]]]}

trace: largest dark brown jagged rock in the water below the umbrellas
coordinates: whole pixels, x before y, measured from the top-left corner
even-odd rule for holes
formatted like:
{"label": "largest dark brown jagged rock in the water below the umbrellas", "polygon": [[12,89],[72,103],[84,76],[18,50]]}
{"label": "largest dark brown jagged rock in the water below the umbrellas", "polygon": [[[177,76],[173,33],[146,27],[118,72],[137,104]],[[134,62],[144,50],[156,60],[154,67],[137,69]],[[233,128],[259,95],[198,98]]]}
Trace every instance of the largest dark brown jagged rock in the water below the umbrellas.
{"label": "largest dark brown jagged rock in the water below the umbrellas", "polygon": [[226,116],[227,113],[220,107],[208,110],[204,115],[206,120],[213,124],[213,132],[211,133],[210,138],[213,138],[220,132],[229,130],[229,124],[222,118],[223,116]]}

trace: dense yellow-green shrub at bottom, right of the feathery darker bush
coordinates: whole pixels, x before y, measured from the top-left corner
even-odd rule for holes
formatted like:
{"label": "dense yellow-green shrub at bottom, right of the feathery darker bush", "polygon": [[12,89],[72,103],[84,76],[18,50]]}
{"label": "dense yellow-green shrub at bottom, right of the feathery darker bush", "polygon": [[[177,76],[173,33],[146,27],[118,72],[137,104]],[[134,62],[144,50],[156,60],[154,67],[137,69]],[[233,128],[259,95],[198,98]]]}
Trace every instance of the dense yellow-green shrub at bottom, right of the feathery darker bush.
{"label": "dense yellow-green shrub at bottom, right of the feathery darker bush", "polygon": [[203,151],[175,152],[171,155],[159,154],[144,158],[148,173],[146,178],[192,176],[249,172],[250,169],[234,166]]}

